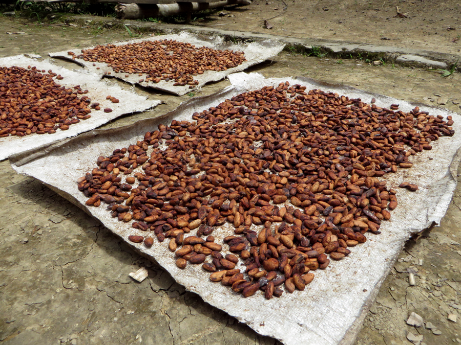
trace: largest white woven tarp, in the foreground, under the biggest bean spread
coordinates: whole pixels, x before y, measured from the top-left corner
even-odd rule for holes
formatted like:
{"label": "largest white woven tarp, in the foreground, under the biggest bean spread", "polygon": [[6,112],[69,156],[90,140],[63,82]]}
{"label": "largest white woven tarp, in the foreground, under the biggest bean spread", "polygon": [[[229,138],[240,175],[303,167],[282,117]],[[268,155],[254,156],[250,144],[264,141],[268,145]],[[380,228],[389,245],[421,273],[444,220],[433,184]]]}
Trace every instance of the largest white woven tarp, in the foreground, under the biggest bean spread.
{"label": "largest white woven tarp, in the foreground, under the biggest bean spread", "polygon": [[[342,261],[332,260],[324,271],[315,271],[315,279],[304,291],[297,290],[292,294],[284,292],[282,297],[271,300],[265,300],[260,293],[245,299],[228,287],[210,282],[209,273],[204,272],[200,265],[188,265],[184,270],[178,268],[174,254],[167,247],[168,241],[159,244],[154,240],[155,244],[150,249],[142,243],[129,242],[129,235],[141,235],[142,232],[112,218],[105,207],[85,206],[87,198],[77,190],[77,178],[95,167],[99,155],[110,155],[116,148],[142,140],[144,133],[156,129],[158,124],[170,124],[173,119],[191,120],[195,111],[216,106],[243,91],[259,89],[265,85],[289,81],[291,85],[301,84],[308,89],[333,91],[351,98],[361,98],[367,103],[374,97],[378,106],[388,107],[398,103],[403,111],[413,109],[415,104],[302,78],[264,79],[256,73],[239,73],[229,76],[229,79],[233,86],[211,96],[189,100],[162,117],[142,120],[119,129],[82,134],[54,147],[44,148],[40,153],[11,157],[11,163],[18,173],[43,181],[58,194],[99,219],[136,251],[157,261],[187,290],[198,293],[205,302],[235,316],[258,333],[277,338],[287,345],[351,344],[405,241],[412,233],[433,223],[438,224],[448,208],[456,186],[461,116],[446,109],[418,104],[422,110],[433,115],[451,115],[455,134],[433,142],[431,151],[411,156],[410,160],[414,163],[411,169],[400,169],[396,174],[385,176],[389,187],[409,181],[417,183],[419,189],[409,192],[396,188],[399,206],[392,212],[391,220],[382,223],[381,235],[367,234],[368,241],[351,248],[348,257]],[[195,234],[194,231],[191,234]],[[218,243],[231,234],[233,227],[227,225],[213,232]],[[223,251],[226,249],[227,246],[223,246]]]}

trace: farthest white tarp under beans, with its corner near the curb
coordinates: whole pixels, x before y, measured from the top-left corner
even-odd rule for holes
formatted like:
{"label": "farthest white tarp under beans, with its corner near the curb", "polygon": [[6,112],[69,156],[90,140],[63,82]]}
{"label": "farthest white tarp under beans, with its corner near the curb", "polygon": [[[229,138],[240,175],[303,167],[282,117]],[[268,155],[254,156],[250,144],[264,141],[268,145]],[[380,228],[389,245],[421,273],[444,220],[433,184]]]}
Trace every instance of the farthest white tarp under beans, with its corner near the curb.
{"label": "farthest white tarp under beans, with its corner near the curb", "polygon": [[[153,36],[153,37],[145,38],[145,39],[132,39],[129,41],[114,42],[111,44],[123,45],[123,44],[128,44],[128,43],[137,43],[137,42],[142,42],[142,41],[158,41],[158,40],[163,40],[163,39],[173,39],[178,42],[191,43],[191,44],[194,44],[196,47],[208,47],[208,48],[218,49],[218,50],[243,51],[245,53],[246,61],[236,67],[229,68],[226,71],[220,71],[220,72],[205,71],[201,75],[194,76],[194,79],[198,80],[199,82],[199,84],[196,85],[198,88],[200,88],[201,86],[205,85],[208,82],[221,80],[229,74],[243,71],[249,66],[253,66],[257,63],[260,63],[260,62],[263,62],[269,59],[270,57],[276,56],[282,51],[283,47],[285,46],[283,43],[276,41],[276,40],[265,40],[261,42],[234,44],[234,43],[224,42],[224,39],[220,36],[199,36],[199,35],[191,34],[188,32],[181,32],[180,34]],[[94,47],[88,47],[82,50],[92,49],[92,48]],[[189,88],[189,85],[173,86],[174,81],[161,80],[159,83],[153,83],[153,82],[141,82],[140,83],[139,80],[146,78],[145,74],[143,74],[142,76],[139,76],[138,74],[130,74],[128,77],[125,77],[125,73],[115,73],[114,71],[112,71],[111,67],[108,67],[107,64],[103,62],[94,62],[95,65],[93,66],[93,62],[90,62],[90,61],[83,61],[83,59],[78,59],[78,58],[73,60],[72,56],[67,54],[68,51],[69,50],[63,51],[63,52],[50,53],[49,55],[51,57],[56,57],[56,58],[70,59],[73,62],[76,62],[82,66],[85,66],[86,68],[88,68],[89,71],[96,73],[101,78],[105,75],[105,73],[111,72],[110,76],[116,77],[128,83],[139,84],[144,87],[152,87],[154,89],[167,91],[169,93],[172,93],[178,96],[182,96],[182,95],[189,93],[190,91],[193,91],[193,89]],[[80,53],[80,49],[73,50],[73,52],[76,55],[78,55]],[[97,70],[97,67],[99,67],[99,70]],[[105,76],[109,77],[108,75],[105,75]]]}

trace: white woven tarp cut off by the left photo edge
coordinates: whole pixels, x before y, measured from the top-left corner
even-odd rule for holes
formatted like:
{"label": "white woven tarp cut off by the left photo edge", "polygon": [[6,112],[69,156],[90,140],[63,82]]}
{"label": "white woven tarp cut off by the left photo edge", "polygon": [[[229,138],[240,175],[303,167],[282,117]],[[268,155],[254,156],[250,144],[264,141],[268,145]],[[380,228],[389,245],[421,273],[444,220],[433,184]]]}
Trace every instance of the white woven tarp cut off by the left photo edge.
{"label": "white woven tarp cut off by the left photo edge", "polygon": [[[53,73],[60,74],[64,79],[56,80],[57,84],[73,87],[80,85],[82,90],[88,89],[88,96],[91,99],[91,104],[99,103],[101,110],[91,111],[91,118],[81,120],[79,123],[69,126],[68,130],[57,129],[53,134],[30,134],[25,136],[10,135],[0,138],[0,160],[8,158],[8,156],[26,150],[35,149],[41,145],[50,144],[61,139],[75,136],[79,133],[95,129],[123,114],[134,113],[154,108],[162,103],[158,100],[148,100],[144,96],[137,95],[134,90],[128,91],[114,85],[107,80],[100,80],[98,76],[88,71],[69,71],[67,68],[58,66],[49,60],[37,60],[39,55],[11,56],[0,58],[0,66],[18,66],[27,68],[27,66],[36,66],[39,70],[52,70]],[[107,100],[107,96],[114,96],[119,99],[119,103],[112,103]],[[112,112],[104,112],[104,108],[111,108]]]}

